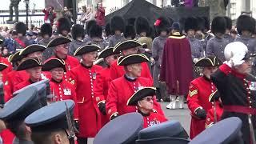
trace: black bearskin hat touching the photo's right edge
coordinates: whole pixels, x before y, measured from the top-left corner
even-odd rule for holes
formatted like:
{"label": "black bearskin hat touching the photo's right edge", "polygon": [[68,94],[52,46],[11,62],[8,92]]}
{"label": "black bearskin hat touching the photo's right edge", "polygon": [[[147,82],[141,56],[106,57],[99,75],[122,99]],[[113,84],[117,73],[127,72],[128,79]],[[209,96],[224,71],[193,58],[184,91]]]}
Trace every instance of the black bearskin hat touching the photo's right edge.
{"label": "black bearskin hat touching the photo's right edge", "polygon": [[240,15],[237,20],[237,29],[238,34],[242,34],[242,30],[248,30],[251,33],[254,33],[255,21],[254,18],[251,18],[248,15]]}

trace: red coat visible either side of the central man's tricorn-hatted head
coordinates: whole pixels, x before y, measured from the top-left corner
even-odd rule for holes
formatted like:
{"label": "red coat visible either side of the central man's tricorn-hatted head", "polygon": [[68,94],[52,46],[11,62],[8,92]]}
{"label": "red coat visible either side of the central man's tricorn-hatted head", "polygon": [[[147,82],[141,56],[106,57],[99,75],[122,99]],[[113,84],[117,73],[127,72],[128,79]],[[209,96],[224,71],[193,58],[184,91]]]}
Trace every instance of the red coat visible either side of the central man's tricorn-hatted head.
{"label": "red coat visible either side of the central man's tricorn-hatted head", "polygon": [[[110,66],[110,80],[114,80],[116,78],[122,77],[125,74],[125,70],[123,66],[118,66],[118,60],[114,61]],[[146,62],[142,62],[142,74],[141,77],[150,78],[153,81],[152,76],[150,74],[149,66]]]}

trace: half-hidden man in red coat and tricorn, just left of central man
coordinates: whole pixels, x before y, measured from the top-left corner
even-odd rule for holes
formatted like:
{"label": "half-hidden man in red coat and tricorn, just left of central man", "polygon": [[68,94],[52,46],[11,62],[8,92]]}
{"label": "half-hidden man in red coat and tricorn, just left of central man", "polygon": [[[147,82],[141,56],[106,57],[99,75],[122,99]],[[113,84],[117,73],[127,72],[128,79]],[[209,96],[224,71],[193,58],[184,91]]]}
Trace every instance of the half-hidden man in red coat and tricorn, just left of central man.
{"label": "half-hidden man in red coat and tricorn, just left of central man", "polygon": [[98,109],[102,113],[102,126],[109,122],[109,118],[106,116],[106,98],[107,93],[110,86],[110,65],[115,61],[116,54],[113,53],[113,47],[102,50],[102,52],[98,55],[99,58],[104,58],[104,62],[106,63],[106,68],[99,71],[96,74],[96,80],[94,82],[94,94],[95,94],[95,102],[97,102]]}

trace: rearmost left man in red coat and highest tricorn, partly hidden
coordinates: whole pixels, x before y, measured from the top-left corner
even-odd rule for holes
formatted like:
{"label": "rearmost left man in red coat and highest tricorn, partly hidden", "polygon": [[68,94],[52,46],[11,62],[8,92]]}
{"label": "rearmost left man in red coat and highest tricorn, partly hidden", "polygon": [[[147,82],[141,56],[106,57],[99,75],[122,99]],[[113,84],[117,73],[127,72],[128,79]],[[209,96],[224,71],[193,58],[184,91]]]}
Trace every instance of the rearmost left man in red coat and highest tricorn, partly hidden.
{"label": "rearmost left man in red coat and highest tricorn, partly hidden", "polygon": [[54,47],[54,56],[50,58],[59,58],[65,61],[66,72],[64,72],[64,79],[70,82],[70,70],[79,65],[78,58],[68,55],[68,44],[71,39],[68,37],[58,37],[51,40],[47,49]]}

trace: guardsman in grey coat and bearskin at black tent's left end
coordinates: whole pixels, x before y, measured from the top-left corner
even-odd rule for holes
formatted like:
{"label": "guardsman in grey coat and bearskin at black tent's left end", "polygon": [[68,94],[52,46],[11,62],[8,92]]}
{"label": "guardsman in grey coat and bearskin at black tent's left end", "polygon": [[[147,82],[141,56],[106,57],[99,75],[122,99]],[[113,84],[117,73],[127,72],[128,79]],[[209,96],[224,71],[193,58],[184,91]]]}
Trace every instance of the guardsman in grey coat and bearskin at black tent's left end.
{"label": "guardsman in grey coat and bearskin at black tent's left end", "polygon": [[110,20],[110,30],[114,34],[110,37],[109,47],[114,47],[118,42],[124,42],[126,38],[122,35],[126,23],[121,16],[114,16]]}

